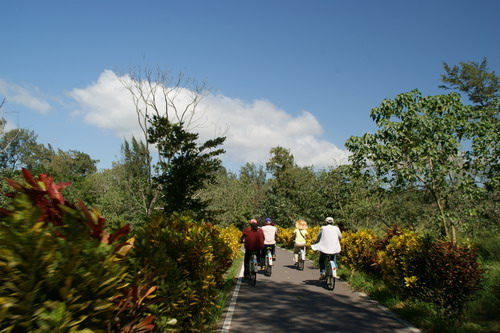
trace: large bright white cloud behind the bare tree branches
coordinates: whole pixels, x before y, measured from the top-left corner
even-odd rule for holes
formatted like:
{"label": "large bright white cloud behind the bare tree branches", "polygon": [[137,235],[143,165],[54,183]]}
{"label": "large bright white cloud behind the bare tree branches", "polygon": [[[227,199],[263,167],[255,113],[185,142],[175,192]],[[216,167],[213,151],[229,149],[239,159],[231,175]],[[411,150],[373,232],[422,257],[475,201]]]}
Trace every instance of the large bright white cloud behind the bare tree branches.
{"label": "large bright white cloud behind the bare tree branches", "polygon": [[[97,82],[84,89],[74,89],[69,95],[79,105],[77,113],[87,123],[109,129],[120,137],[140,137],[135,106],[129,91],[112,71],[104,71]],[[183,90],[176,105],[184,108],[190,100],[189,90]],[[164,109],[164,108],[163,108]],[[299,166],[328,167],[345,164],[347,151],[321,139],[323,128],[308,111],[293,116],[271,102],[256,100],[245,103],[221,95],[207,95],[198,105],[193,130],[207,140],[216,135],[227,137],[223,148],[224,163],[243,165],[246,162],[265,164],[271,148],[290,149]],[[202,117],[200,117],[200,115]]]}

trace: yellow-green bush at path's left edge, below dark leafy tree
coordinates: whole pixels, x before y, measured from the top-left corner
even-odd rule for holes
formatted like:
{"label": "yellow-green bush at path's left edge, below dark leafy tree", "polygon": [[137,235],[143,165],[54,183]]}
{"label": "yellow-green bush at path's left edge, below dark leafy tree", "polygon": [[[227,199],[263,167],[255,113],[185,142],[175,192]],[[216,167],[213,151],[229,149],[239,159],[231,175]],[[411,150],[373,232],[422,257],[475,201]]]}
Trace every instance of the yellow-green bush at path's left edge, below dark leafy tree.
{"label": "yellow-green bush at path's left edge, below dark leafy tree", "polygon": [[177,214],[157,216],[138,229],[134,247],[136,279],[158,285],[158,328],[206,328],[217,287],[234,258],[219,229]]}

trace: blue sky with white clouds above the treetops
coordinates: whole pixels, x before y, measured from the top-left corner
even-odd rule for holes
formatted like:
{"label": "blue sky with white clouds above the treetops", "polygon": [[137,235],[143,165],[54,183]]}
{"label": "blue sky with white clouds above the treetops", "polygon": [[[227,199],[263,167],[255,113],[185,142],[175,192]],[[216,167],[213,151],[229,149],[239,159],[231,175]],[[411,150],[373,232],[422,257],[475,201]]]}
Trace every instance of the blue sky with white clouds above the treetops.
{"label": "blue sky with white clouds above the treetops", "polygon": [[486,57],[500,70],[498,0],[4,0],[0,12],[9,128],[100,168],[138,135],[117,87],[131,67],[207,83],[203,107],[227,129],[234,171],[278,145],[301,166],[345,163],[345,141],[376,130],[369,112],[383,99],[445,93],[443,62]]}

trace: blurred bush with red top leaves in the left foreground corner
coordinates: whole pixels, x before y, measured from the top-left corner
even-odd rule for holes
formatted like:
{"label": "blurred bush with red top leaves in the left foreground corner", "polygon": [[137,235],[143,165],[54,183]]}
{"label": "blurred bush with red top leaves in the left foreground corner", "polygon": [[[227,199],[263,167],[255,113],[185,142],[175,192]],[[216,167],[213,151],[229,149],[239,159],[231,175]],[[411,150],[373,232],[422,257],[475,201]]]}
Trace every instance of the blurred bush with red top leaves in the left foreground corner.
{"label": "blurred bush with red top leaves in the left foreground corner", "polygon": [[127,275],[117,256],[126,243],[117,241],[128,226],[109,234],[103,218],[65,201],[67,184],[27,170],[23,176],[26,185],[8,181],[13,204],[0,210],[0,330],[135,331],[143,313],[120,311],[114,302]]}

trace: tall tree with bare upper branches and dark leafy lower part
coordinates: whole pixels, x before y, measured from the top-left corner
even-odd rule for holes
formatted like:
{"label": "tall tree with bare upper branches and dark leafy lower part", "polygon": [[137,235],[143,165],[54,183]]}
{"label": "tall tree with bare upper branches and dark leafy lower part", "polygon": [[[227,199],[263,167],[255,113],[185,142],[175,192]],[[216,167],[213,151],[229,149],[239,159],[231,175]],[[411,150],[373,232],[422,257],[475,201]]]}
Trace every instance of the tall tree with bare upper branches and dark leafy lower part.
{"label": "tall tree with bare upper branches and dark leafy lower part", "polygon": [[[196,189],[201,188],[200,182],[203,179],[211,179],[208,175],[220,164],[215,157],[222,153],[221,150],[207,152],[222,144],[222,137],[201,145],[195,143],[198,138],[196,127],[205,125],[203,112],[198,110],[198,104],[206,93],[205,84],[197,84],[182,74],[171,76],[168,71],[160,68],[131,69],[121,82],[132,96],[137,121],[144,136],[144,153],[147,157],[143,161],[147,167],[148,183],[145,190],[148,193],[142,197],[149,200],[146,204],[149,207],[147,215],[153,213],[160,196],[170,202],[163,202],[167,211],[173,209],[171,204],[174,201],[180,205],[178,209],[184,209],[187,202],[180,197],[193,195]],[[153,154],[156,156],[153,157]],[[196,166],[195,162],[201,162],[202,165]],[[203,171],[203,167],[208,169]],[[198,175],[191,177],[190,172]],[[207,178],[199,177],[203,173]],[[177,176],[189,177],[184,180],[173,178]],[[189,182],[196,184],[190,186]],[[174,191],[175,197],[165,197],[166,193],[173,191],[173,187],[184,185],[189,187],[183,188],[182,193]]]}

